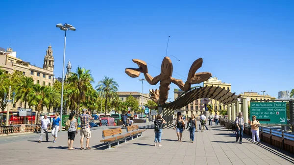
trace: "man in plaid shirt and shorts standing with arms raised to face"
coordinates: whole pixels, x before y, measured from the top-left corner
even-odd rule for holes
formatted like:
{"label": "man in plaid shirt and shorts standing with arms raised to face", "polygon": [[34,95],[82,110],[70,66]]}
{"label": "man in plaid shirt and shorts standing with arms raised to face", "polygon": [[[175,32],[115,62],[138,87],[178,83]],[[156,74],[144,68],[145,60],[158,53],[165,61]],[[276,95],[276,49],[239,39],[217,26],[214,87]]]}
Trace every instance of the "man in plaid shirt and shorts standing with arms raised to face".
{"label": "man in plaid shirt and shorts standing with arms raised to face", "polygon": [[[88,113],[88,114],[87,114]],[[89,126],[89,122],[90,119],[94,119],[91,117],[91,112],[87,109],[83,109],[83,114],[81,114],[79,116],[80,120],[81,120],[81,149],[91,149],[89,147],[89,142],[90,142],[90,138],[91,138],[91,131],[90,131],[90,126]],[[86,148],[83,148],[83,140],[84,138],[87,139],[86,142]]]}

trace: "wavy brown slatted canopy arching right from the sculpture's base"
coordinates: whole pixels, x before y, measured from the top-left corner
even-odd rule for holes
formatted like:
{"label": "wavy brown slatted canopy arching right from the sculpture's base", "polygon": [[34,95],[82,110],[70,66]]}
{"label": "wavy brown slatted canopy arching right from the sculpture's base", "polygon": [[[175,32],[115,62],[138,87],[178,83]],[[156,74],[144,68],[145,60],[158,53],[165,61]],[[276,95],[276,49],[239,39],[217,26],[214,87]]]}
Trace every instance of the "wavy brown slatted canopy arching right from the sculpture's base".
{"label": "wavy brown slatted canopy arching right from the sculpture's base", "polygon": [[227,91],[220,86],[200,87],[186,91],[171,103],[150,108],[157,109],[158,107],[162,107],[172,110],[180,109],[198,98],[211,98],[221,102],[222,104],[228,105],[232,104],[233,102],[236,103],[240,97],[241,96],[238,96],[235,93],[231,93],[230,91]]}

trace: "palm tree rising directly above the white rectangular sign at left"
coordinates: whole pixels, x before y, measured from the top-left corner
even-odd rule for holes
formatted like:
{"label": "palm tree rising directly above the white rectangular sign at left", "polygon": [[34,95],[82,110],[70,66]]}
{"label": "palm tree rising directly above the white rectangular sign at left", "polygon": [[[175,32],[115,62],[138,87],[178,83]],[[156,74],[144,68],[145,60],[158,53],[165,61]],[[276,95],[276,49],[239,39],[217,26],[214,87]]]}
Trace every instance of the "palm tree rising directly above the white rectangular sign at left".
{"label": "palm tree rising directly above the white rectangular sign at left", "polygon": [[17,89],[17,93],[15,95],[16,102],[18,100],[25,101],[25,108],[26,102],[28,101],[29,94],[33,91],[34,80],[31,77],[24,76],[21,79],[20,85]]}

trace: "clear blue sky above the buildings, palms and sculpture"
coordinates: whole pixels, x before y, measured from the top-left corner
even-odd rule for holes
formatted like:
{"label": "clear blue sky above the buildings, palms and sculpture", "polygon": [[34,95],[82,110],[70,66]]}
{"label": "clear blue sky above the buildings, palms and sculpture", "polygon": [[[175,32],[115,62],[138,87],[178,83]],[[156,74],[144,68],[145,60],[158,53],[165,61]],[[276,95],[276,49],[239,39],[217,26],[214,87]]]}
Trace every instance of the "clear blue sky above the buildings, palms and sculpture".
{"label": "clear blue sky above the buildings, palms and sculpture", "polygon": [[[71,59],[73,71],[91,70],[95,85],[106,75],[120,91],[141,92],[143,74],[130,78],[124,69],[137,67],[132,59],[138,58],[158,75],[171,36],[168,56],[180,59],[171,57],[180,74],[174,78],[185,82],[193,61],[202,57],[198,72],[231,83],[236,94],[265,90],[277,97],[294,88],[293,0],[4,0],[1,6],[0,47],[11,41],[17,57],[42,67],[51,44],[55,77],[62,75],[64,44],[64,31],[55,25],[68,23],[76,31],[68,32],[66,63]],[[144,93],[158,87],[144,82]]]}

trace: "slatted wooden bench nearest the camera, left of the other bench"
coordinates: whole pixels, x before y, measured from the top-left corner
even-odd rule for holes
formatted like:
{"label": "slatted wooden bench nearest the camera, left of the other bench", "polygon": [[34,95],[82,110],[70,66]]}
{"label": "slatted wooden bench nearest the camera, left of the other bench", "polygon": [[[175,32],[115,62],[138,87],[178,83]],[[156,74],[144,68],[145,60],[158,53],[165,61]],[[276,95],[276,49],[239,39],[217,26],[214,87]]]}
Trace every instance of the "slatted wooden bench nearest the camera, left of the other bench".
{"label": "slatted wooden bench nearest the camera, left of the other bench", "polygon": [[[104,143],[108,143],[108,148],[111,148],[111,144],[117,142],[117,145],[120,145],[120,141],[126,142],[126,138],[129,138],[131,134],[122,135],[121,128],[108,129],[102,131],[102,139]],[[109,137],[109,138],[106,138]]]}

